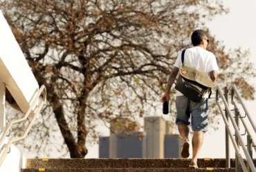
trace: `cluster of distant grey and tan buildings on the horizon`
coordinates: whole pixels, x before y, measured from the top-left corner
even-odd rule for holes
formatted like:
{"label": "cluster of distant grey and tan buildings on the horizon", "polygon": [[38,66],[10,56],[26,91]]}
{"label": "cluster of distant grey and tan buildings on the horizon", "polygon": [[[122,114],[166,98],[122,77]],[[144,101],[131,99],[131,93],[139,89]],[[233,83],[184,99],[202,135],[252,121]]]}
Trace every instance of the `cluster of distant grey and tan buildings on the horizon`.
{"label": "cluster of distant grey and tan buildings on the horizon", "polygon": [[[125,127],[133,127],[124,133]],[[111,123],[109,137],[100,138],[99,158],[181,158],[181,139],[161,116],[144,118],[144,132],[125,118]]]}

